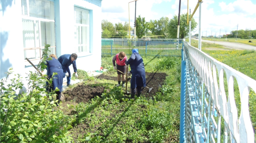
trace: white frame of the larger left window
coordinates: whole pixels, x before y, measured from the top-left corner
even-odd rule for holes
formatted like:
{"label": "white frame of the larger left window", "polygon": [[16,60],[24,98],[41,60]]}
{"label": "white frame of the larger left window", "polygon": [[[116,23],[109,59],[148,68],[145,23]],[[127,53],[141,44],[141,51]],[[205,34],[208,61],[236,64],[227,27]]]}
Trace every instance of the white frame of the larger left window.
{"label": "white frame of the larger left window", "polygon": [[[45,2],[53,2],[53,6],[54,6],[54,10],[53,10],[53,15],[54,15],[54,20],[52,20],[52,19],[44,19],[44,18],[37,18],[37,17],[31,17],[30,15],[29,15],[29,0],[26,0],[26,4],[27,4],[27,15],[25,15],[25,14],[23,14],[23,9],[22,9],[22,14],[21,14],[21,18],[22,19],[27,19],[27,20],[33,20],[34,21],[34,29],[35,29],[35,27],[36,27],[36,24],[35,24],[35,21],[38,21],[38,34],[39,34],[39,47],[31,47],[31,48],[24,48],[24,45],[23,45],[23,49],[24,49],[24,51],[25,50],[37,50],[37,49],[39,49],[40,50],[40,59],[42,58],[42,50],[44,50],[44,46],[41,46],[42,45],[42,39],[41,39],[41,21],[44,21],[44,22],[54,22],[54,39],[55,39],[55,46],[51,46],[51,47],[49,47],[49,48],[53,48],[53,49],[55,49],[54,51],[52,51],[51,50],[51,52],[53,52],[53,53],[55,53],[55,55],[56,55],[56,27],[55,27],[55,17],[56,17],[56,15],[55,15],[55,1],[53,1],[53,0],[41,0],[41,1],[45,1]],[[23,5],[22,5],[23,6]],[[23,8],[23,7],[22,7]],[[25,12],[25,11],[24,11]],[[22,29],[23,30],[23,29]],[[34,30],[34,32],[36,32],[35,30]],[[36,35],[36,34],[35,34]],[[34,37],[34,40],[36,41],[36,36]],[[25,55],[24,55],[25,56]],[[24,57],[25,58],[25,57]],[[40,59],[37,59],[37,58],[35,58],[35,59],[30,59],[30,61],[33,61],[33,63],[36,63],[36,62],[39,62],[40,61]],[[28,62],[27,60],[25,60],[25,62]],[[25,65],[27,65],[27,64],[25,64]]]}

